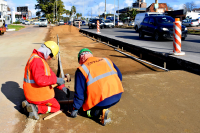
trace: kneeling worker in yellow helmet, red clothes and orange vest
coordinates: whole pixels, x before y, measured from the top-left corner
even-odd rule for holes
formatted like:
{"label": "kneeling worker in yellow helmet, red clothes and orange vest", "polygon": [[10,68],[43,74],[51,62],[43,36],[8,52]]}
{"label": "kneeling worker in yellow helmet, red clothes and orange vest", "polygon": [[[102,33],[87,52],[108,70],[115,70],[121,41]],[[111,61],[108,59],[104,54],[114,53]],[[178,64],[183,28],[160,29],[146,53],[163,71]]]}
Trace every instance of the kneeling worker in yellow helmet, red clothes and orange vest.
{"label": "kneeling worker in yellow helmet, red clothes and orange vest", "polygon": [[32,119],[38,120],[38,114],[60,110],[60,104],[54,98],[55,92],[51,85],[57,83],[57,88],[69,96],[64,79],[57,78],[46,62],[55,57],[58,51],[59,47],[54,41],[47,41],[38,50],[33,50],[26,64],[23,83],[26,100],[22,102],[22,107],[29,112]]}

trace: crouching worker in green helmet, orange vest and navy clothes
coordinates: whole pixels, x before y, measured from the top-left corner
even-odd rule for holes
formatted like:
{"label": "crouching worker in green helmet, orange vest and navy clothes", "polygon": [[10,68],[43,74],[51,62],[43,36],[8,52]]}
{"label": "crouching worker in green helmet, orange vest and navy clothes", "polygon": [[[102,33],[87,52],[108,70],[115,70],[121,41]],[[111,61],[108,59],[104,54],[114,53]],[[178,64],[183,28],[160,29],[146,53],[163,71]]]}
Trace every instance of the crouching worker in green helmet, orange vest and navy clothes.
{"label": "crouching worker in green helmet, orange vest and navy clothes", "polygon": [[111,106],[119,102],[124,89],[122,74],[108,58],[93,57],[92,52],[81,49],[75,73],[75,94],[72,117],[83,110],[88,117],[99,119],[102,125],[111,122]]}

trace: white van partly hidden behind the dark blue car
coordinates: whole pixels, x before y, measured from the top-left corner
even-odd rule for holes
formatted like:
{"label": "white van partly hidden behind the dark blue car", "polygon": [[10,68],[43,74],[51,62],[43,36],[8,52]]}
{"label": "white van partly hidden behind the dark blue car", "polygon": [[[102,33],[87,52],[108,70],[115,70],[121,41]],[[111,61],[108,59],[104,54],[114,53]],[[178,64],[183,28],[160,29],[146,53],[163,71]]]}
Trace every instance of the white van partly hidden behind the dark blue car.
{"label": "white van partly hidden behind the dark blue car", "polygon": [[144,13],[138,13],[135,17],[135,31],[138,32],[140,29],[140,23],[143,21],[143,19],[147,16],[151,15],[164,15],[163,13],[159,12],[144,12]]}

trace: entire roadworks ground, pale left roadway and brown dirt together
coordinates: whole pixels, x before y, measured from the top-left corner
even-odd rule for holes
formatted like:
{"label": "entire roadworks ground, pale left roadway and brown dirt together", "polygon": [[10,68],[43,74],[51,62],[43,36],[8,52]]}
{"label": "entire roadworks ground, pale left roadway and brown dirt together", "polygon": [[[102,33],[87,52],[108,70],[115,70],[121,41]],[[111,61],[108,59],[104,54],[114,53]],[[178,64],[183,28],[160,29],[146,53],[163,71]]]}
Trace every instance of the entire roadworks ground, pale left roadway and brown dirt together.
{"label": "entire roadworks ground, pale left roadway and brown dirt together", "polygon": [[[120,69],[124,93],[119,103],[110,108],[112,123],[102,126],[98,122],[78,115],[70,117],[71,105],[62,104],[63,113],[43,120],[50,114],[39,115],[39,120],[27,118],[21,102],[23,75],[26,62],[33,49],[48,40],[57,42],[61,52],[64,73],[69,73],[73,99],[74,75],[78,52],[89,48],[96,57],[110,58]],[[200,76],[183,70],[166,72],[128,58],[102,43],[79,33],[73,26],[37,28],[28,26],[19,32],[5,34],[0,48],[0,132],[11,133],[199,133],[200,132]],[[126,51],[123,51],[126,53]],[[128,53],[128,52],[127,52]],[[128,53],[135,56],[131,53]],[[57,73],[58,61],[48,61]],[[55,90],[58,100],[67,100],[63,92]]]}

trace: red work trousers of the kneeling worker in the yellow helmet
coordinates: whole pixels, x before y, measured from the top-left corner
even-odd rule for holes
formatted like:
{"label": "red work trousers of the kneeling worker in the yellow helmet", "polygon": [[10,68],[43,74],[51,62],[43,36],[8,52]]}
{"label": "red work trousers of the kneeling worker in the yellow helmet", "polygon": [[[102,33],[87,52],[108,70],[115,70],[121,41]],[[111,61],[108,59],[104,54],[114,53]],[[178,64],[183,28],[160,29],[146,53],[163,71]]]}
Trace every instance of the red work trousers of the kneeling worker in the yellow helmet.
{"label": "red work trousers of the kneeling worker in the yellow helmet", "polygon": [[60,110],[60,104],[55,98],[46,100],[46,101],[41,101],[41,102],[33,102],[27,100],[31,104],[35,104],[38,107],[38,114],[46,114],[48,111],[48,106],[51,107],[50,112],[57,112]]}

